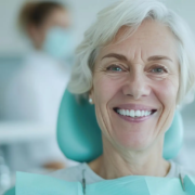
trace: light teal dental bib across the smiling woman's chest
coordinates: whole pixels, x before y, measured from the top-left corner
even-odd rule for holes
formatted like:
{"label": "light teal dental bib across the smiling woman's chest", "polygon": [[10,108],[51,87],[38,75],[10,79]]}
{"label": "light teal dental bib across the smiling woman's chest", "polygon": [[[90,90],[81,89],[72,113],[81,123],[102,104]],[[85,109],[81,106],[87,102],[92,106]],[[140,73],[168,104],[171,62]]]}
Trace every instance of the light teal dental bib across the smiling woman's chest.
{"label": "light teal dental bib across the smiling woman's chest", "polygon": [[128,176],[87,184],[49,176],[17,172],[16,195],[194,195],[195,177],[158,178]]}

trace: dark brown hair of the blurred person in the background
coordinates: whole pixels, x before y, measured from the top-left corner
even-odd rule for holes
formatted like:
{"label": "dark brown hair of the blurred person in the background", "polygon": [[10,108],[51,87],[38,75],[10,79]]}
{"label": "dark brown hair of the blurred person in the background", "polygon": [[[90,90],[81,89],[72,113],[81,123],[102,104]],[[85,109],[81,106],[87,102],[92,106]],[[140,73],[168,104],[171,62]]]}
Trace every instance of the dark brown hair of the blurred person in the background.
{"label": "dark brown hair of the blurred person in the background", "polygon": [[65,9],[65,6],[58,2],[51,1],[25,3],[18,16],[20,27],[24,31],[29,25],[40,27],[56,9]]}

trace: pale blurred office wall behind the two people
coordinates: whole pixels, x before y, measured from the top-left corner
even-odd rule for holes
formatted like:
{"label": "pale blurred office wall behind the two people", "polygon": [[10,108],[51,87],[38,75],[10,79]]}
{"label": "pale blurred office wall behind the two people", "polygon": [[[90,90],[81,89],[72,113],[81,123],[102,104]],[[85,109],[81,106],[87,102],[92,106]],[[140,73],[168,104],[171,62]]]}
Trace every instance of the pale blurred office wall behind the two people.
{"label": "pale blurred office wall behind the two people", "polygon": [[[83,31],[94,21],[96,13],[116,0],[67,0],[74,17],[74,37],[76,47],[82,39]],[[9,79],[21,65],[21,58],[29,52],[29,42],[18,32],[16,18],[25,0],[0,0],[0,91],[2,94]],[[63,2],[63,1],[62,1]],[[195,34],[194,0],[164,0],[190,24]],[[3,121],[0,94],[0,120]],[[188,167],[195,165],[195,103],[182,110],[185,129],[185,142],[180,161]],[[187,157],[186,157],[187,156]],[[183,158],[183,159],[182,159]]]}

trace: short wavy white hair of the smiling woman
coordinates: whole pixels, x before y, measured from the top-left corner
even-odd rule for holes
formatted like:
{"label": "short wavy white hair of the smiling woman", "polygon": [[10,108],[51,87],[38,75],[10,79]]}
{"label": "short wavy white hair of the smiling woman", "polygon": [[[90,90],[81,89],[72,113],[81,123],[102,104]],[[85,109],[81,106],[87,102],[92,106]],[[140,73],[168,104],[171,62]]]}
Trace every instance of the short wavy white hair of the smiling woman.
{"label": "short wavy white hair of the smiling woman", "polygon": [[[76,50],[68,90],[75,94],[88,93],[92,88],[92,73],[99,50],[112,42],[122,26],[129,26],[132,35],[146,18],[168,26],[177,40],[180,62],[180,89],[177,103],[181,104],[195,84],[195,44],[186,23],[157,0],[122,0],[98,14],[96,22],[84,32]],[[126,37],[126,38],[127,38]]]}

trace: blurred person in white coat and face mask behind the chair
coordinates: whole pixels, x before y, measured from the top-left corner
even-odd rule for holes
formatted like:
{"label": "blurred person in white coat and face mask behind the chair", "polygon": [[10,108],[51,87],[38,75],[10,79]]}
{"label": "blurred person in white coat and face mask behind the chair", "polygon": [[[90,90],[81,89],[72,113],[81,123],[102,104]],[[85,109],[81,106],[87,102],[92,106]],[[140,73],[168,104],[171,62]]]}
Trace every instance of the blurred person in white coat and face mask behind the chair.
{"label": "blurred person in white coat and face mask behind the chair", "polygon": [[[56,1],[28,2],[22,8],[18,21],[32,51],[9,84],[5,117],[46,123],[55,131],[60,102],[70,70],[67,63],[73,51],[70,14]],[[12,157],[15,155],[12,161],[17,164],[17,169],[29,164],[52,169],[68,166],[54,139],[21,144],[10,148],[10,153],[13,153]]]}

